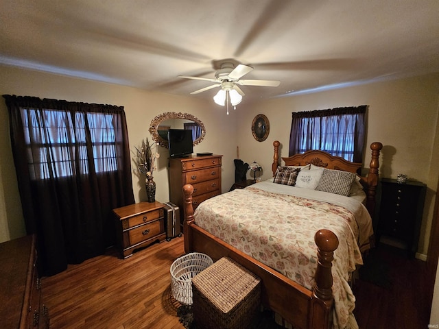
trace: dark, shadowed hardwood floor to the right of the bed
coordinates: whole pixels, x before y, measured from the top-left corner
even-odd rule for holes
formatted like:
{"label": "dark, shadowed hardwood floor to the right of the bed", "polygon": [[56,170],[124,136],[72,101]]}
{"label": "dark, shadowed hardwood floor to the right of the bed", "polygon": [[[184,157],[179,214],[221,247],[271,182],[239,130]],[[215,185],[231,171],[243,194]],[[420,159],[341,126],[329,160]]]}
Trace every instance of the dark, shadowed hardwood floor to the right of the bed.
{"label": "dark, shadowed hardwood floor to the right of the bed", "polygon": [[[427,264],[407,258],[403,249],[379,244],[371,257],[378,269],[388,276],[387,287],[379,287],[364,280],[355,282],[357,298],[355,318],[360,329],[427,328],[430,308],[427,293]],[[367,260],[366,260],[367,261]]]}

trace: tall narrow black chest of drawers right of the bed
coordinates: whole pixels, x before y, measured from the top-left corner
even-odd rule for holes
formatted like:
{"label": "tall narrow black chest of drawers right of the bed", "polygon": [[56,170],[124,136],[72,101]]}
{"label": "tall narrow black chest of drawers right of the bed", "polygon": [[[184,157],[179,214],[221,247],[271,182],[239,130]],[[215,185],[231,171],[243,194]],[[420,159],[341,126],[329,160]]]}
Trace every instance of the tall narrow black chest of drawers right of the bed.
{"label": "tall narrow black chest of drawers right of the bed", "polygon": [[423,218],[426,186],[422,182],[381,179],[381,208],[379,211],[378,241],[382,236],[407,245],[414,257],[418,249],[420,223]]}

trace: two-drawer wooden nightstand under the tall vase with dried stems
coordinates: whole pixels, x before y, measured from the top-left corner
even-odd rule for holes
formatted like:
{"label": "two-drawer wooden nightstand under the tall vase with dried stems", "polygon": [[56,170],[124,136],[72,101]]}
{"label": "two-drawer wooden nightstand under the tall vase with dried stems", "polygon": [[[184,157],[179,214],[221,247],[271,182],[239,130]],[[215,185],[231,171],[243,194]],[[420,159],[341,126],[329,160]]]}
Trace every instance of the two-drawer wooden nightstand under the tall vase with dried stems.
{"label": "two-drawer wooden nightstand under the tall vase with dried stems", "polygon": [[140,202],[112,211],[116,215],[117,244],[123,258],[134,249],[166,239],[164,204]]}

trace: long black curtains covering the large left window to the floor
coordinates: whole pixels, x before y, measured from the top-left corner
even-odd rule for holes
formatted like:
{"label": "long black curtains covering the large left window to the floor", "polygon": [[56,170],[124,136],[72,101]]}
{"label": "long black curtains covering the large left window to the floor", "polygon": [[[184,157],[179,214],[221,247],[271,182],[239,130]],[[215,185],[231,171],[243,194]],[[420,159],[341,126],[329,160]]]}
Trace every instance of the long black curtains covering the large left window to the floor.
{"label": "long black curtains covering the large left window to the floor", "polygon": [[27,234],[43,275],[115,244],[112,209],[134,203],[123,107],[3,95]]}

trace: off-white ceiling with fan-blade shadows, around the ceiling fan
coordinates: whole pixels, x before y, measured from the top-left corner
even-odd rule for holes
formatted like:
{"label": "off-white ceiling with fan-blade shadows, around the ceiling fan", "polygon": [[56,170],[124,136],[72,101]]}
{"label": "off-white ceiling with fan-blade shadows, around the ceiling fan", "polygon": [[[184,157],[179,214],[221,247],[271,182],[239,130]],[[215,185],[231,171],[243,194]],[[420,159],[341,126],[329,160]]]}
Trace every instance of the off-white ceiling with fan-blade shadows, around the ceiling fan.
{"label": "off-white ceiling with fan-blade shadows, around the ceiling fan", "polygon": [[[438,0],[0,0],[0,63],[189,95],[215,61],[247,98],[439,72]],[[191,97],[213,97],[211,89]]]}

